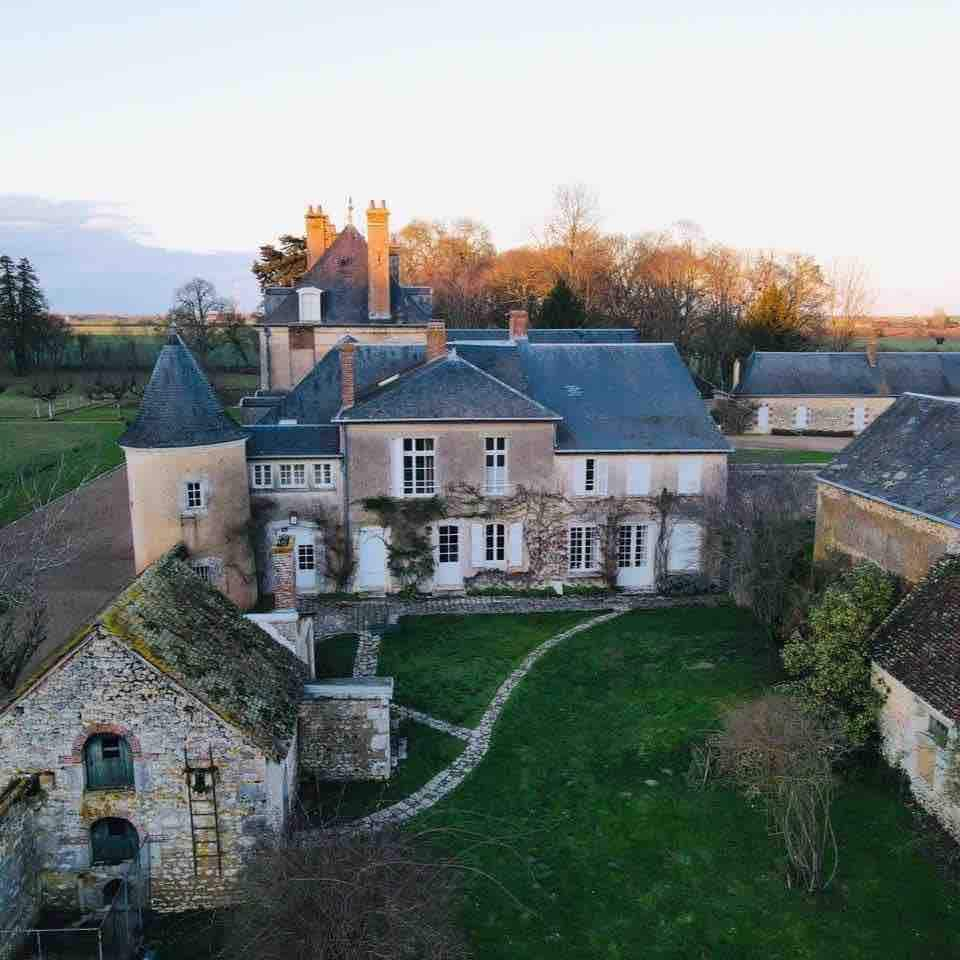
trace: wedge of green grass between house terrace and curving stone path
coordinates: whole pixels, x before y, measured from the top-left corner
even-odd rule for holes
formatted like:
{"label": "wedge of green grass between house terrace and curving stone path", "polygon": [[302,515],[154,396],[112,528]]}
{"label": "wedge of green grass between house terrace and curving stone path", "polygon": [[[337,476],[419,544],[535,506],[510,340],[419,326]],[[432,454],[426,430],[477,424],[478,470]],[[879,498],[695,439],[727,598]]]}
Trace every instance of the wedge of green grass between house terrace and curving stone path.
{"label": "wedge of green grass between house terrace and curving stone path", "polygon": [[595,613],[402,617],[380,646],[381,676],[395,699],[450,723],[472,726],[497,687],[548,637]]}

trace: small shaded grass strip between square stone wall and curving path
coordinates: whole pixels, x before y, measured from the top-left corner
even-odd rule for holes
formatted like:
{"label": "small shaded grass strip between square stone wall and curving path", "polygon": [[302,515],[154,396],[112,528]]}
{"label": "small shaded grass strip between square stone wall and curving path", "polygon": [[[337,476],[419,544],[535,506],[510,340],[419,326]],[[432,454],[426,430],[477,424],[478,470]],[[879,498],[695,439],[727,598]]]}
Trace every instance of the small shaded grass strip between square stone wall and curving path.
{"label": "small shaded grass strip between square stone wall and curving path", "polygon": [[300,802],[312,821],[353,820],[409,797],[450,766],[466,746],[457,737],[412,721],[401,723],[397,733],[407,740],[407,759],[400,761],[389,780],[301,783]]}

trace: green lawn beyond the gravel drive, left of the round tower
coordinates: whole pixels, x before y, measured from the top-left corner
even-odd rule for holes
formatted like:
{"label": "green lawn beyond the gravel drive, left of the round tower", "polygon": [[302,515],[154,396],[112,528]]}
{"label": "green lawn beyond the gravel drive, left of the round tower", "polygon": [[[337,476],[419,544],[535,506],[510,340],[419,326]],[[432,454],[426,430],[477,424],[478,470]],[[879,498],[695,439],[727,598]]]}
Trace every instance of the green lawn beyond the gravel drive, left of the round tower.
{"label": "green lawn beyond the gravel drive, left of the round tower", "polygon": [[59,496],[122,463],[125,429],[117,421],[0,422],[0,526],[28,513],[34,493]]}

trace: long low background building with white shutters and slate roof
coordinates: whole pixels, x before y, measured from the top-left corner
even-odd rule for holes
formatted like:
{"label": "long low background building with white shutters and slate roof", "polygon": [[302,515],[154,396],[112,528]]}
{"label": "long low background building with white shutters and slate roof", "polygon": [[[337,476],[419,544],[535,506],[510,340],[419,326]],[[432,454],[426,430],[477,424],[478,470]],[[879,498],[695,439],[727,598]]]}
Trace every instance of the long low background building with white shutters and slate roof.
{"label": "long low background building with white shutters and slate roof", "polygon": [[753,433],[856,435],[906,393],[960,397],[960,353],[755,351],[734,388]]}

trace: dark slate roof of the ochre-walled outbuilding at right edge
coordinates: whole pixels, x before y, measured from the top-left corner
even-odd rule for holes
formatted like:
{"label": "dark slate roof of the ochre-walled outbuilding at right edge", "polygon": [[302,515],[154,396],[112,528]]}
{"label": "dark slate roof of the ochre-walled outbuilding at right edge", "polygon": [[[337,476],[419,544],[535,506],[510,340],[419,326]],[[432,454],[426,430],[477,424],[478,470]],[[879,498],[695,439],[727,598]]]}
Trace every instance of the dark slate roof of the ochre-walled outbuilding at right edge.
{"label": "dark slate roof of the ochre-walled outbuilding at right edge", "polygon": [[960,527],[960,400],[900,397],[817,479]]}

